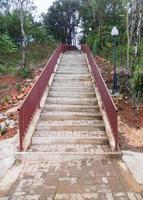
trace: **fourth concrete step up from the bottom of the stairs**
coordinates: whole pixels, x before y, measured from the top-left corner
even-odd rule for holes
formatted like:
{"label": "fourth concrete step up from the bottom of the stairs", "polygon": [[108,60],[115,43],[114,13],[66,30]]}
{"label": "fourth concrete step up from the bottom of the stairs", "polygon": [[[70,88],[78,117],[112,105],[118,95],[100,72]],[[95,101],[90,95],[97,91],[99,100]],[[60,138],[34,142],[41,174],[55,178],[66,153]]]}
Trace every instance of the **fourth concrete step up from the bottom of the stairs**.
{"label": "fourth concrete step up from the bottom of the stairs", "polygon": [[87,112],[43,112],[40,116],[41,120],[94,120],[102,119],[101,113],[87,113]]}

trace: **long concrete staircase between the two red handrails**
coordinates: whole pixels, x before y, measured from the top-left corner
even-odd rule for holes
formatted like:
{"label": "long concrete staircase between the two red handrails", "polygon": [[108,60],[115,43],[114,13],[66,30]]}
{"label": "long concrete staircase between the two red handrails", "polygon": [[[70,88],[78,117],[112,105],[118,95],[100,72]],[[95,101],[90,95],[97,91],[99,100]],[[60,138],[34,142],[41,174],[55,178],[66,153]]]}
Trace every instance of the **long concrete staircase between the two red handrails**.
{"label": "long concrete staircase between the two red handrails", "polygon": [[80,52],[62,56],[28,152],[37,159],[62,160],[118,155],[109,146],[86,58]]}

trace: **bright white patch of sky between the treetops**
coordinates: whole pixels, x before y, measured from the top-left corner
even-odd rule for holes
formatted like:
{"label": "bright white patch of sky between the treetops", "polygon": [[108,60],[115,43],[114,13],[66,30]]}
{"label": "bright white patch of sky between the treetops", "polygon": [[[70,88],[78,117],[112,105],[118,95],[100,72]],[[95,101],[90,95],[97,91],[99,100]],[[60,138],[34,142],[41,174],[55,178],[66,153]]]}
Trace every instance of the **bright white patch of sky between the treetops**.
{"label": "bright white patch of sky between the treetops", "polygon": [[34,0],[35,6],[37,6],[38,14],[47,12],[47,9],[52,5],[55,0]]}

